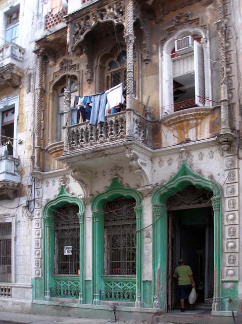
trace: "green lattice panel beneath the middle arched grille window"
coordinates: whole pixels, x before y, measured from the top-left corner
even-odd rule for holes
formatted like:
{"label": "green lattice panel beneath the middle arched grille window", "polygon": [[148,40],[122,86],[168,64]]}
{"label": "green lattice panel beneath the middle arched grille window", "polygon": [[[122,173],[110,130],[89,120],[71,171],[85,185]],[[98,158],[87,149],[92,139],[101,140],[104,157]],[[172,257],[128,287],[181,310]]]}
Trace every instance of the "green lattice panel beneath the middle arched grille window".
{"label": "green lattice panel beneath the middle arched grille window", "polygon": [[135,282],[105,282],[105,289],[100,292],[101,300],[135,302]]}

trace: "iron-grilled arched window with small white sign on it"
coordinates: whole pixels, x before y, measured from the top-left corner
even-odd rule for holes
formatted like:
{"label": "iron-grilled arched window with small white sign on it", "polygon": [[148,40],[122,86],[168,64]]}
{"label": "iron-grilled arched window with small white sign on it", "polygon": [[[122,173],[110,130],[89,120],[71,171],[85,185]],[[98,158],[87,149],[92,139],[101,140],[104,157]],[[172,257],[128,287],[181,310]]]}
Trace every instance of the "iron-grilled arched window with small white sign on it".
{"label": "iron-grilled arched window with small white sign on it", "polygon": [[78,274],[80,260],[79,208],[66,204],[54,212],[54,274]]}

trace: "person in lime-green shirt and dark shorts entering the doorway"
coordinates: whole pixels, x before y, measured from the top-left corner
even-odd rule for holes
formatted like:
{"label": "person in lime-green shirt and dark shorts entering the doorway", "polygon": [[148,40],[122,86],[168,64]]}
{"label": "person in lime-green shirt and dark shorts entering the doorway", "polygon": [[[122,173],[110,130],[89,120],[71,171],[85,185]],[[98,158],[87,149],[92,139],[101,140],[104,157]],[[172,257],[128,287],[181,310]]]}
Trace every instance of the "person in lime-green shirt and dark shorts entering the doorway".
{"label": "person in lime-green shirt and dark shorts entering the doorway", "polygon": [[196,287],[193,279],[191,268],[185,265],[182,259],[178,260],[179,267],[175,268],[173,277],[178,280],[178,291],[181,302],[181,312],[185,311],[184,300],[187,298],[187,294],[190,294],[192,287]]}

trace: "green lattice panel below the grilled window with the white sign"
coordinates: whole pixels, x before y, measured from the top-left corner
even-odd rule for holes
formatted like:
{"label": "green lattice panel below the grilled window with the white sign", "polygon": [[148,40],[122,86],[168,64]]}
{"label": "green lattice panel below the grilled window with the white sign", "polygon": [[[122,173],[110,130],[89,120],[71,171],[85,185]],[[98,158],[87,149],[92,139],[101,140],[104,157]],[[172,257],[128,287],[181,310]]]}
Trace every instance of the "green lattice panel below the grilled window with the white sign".
{"label": "green lattice panel below the grilled window with the white sign", "polygon": [[51,288],[51,297],[79,298],[78,280],[55,280],[55,288]]}

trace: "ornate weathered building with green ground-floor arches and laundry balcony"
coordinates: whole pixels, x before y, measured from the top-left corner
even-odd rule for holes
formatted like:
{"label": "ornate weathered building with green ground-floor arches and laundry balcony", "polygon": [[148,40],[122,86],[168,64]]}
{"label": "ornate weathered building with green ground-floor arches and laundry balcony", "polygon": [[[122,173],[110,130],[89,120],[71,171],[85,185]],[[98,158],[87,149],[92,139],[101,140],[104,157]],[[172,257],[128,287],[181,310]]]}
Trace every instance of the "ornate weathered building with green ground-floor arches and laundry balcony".
{"label": "ornate weathered building with green ground-floor arches and laundry balcony", "polygon": [[[25,39],[28,48],[35,41],[35,101],[31,83],[23,95],[35,112],[26,118],[34,125],[34,153],[31,142],[26,148],[34,167],[32,182],[21,180],[33,183],[25,197],[32,222],[21,219],[31,247],[29,309],[105,317],[115,305],[126,319],[169,313],[178,303],[172,274],[183,258],[197,282],[195,307],[211,309],[207,322],[232,322],[229,298],[242,314],[239,5],[36,2]],[[21,10],[9,12],[12,42]],[[23,68],[31,80],[31,67]],[[113,87],[105,110],[104,92]],[[114,108],[117,96],[124,102]],[[11,229],[4,230],[10,245]],[[18,310],[15,301],[4,300],[5,309]],[[171,321],[169,314],[156,319]]]}

